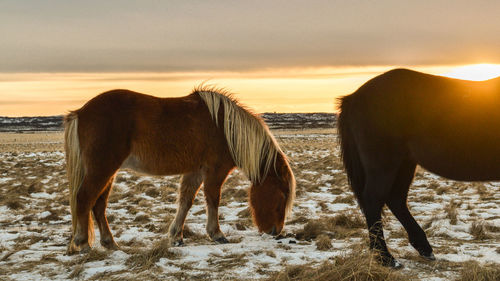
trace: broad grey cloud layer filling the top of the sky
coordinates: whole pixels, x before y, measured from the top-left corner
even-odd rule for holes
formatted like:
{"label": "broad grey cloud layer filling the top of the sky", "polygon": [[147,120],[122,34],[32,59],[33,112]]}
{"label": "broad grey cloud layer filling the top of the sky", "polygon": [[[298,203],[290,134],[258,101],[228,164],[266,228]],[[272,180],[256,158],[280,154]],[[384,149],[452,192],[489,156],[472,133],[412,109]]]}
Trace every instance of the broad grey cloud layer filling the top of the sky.
{"label": "broad grey cloud layer filling the top of the sky", "polygon": [[0,71],[498,63],[500,2],[471,3],[4,2]]}

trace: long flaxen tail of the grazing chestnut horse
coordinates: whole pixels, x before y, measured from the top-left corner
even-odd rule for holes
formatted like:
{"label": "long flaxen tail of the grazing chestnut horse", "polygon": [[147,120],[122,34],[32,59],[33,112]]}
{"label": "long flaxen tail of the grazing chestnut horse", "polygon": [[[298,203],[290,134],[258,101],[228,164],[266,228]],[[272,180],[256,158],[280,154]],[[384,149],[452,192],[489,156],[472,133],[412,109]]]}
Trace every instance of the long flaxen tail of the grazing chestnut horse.
{"label": "long flaxen tail of the grazing chestnut horse", "polygon": [[[80,141],[78,137],[78,115],[71,112],[64,117],[64,150],[66,151],[66,171],[69,181],[69,205],[71,208],[72,239],[75,237],[78,222],[77,217],[77,195],[85,176],[82,156],[80,152]],[[94,227],[92,216],[89,218],[89,245],[94,240]]]}

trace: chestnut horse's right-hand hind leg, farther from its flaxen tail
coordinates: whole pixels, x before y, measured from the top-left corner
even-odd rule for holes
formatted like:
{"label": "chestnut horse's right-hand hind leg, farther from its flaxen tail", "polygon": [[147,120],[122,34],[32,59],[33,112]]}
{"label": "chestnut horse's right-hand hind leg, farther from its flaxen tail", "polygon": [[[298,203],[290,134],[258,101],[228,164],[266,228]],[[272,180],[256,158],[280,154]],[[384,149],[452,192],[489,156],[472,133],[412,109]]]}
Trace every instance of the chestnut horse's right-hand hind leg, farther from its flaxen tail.
{"label": "chestnut horse's right-hand hind leg, farther from its flaxen tail", "polygon": [[92,208],[97,226],[99,227],[99,233],[101,234],[101,245],[110,250],[118,249],[118,245],[113,239],[113,234],[111,234],[111,230],[109,229],[108,219],[106,218],[106,207],[108,205],[108,197],[113,184],[113,179],[114,176],[109,179],[108,183],[104,187],[104,191]]}

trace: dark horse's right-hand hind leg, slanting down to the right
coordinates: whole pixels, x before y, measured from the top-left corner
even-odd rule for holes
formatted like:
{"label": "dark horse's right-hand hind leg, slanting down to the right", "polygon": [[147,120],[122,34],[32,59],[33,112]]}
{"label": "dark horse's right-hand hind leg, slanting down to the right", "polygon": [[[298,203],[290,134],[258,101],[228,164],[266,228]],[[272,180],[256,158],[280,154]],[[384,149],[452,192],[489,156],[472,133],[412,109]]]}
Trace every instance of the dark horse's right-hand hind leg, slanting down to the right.
{"label": "dark horse's right-hand hind leg, slanting down to the right", "polygon": [[416,164],[412,160],[404,161],[401,164],[390,197],[387,200],[387,206],[405,228],[410,244],[422,257],[435,260],[432,247],[427,240],[424,230],[418,225],[408,210],[408,189],[413,180],[415,168]]}

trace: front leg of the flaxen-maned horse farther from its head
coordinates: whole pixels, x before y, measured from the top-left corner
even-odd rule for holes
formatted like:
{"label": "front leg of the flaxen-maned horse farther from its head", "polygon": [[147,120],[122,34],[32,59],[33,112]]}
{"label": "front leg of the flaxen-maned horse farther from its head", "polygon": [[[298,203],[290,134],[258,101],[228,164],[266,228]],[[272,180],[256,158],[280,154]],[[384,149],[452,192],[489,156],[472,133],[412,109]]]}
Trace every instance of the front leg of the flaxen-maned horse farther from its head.
{"label": "front leg of the flaxen-maned horse farther from its head", "polygon": [[177,199],[179,206],[177,207],[175,219],[172,224],[170,224],[168,230],[171,243],[175,246],[184,244],[182,241],[184,221],[186,220],[189,209],[193,205],[194,197],[198,193],[198,190],[200,190],[201,182],[201,172],[185,174],[182,177],[179,198]]}

